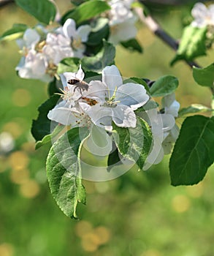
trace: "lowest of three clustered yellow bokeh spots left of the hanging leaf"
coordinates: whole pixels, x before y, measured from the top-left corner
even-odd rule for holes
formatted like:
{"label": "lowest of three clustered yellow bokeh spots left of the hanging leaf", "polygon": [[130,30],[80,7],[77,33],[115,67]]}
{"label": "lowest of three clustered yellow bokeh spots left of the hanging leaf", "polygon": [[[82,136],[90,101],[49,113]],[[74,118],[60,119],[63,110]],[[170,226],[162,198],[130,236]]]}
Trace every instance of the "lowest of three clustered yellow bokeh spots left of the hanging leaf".
{"label": "lowest of three clustered yellow bokeh spots left of the hanging leaf", "polygon": [[20,185],[20,193],[24,197],[32,198],[39,194],[39,184],[36,181],[28,180]]}

